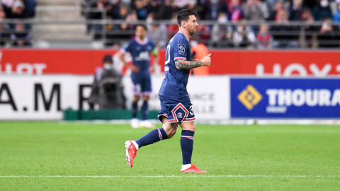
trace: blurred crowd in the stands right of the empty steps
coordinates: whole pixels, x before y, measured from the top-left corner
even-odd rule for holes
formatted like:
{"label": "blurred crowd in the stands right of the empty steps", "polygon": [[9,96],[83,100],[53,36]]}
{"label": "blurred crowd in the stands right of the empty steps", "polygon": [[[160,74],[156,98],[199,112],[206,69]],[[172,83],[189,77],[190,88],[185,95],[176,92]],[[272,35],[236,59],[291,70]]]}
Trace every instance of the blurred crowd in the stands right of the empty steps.
{"label": "blurred crowd in the stands right of the empty steps", "polygon": [[[339,47],[340,0],[86,0],[86,8],[103,12],[89,12],[89,19],[123,19],[125,21],[176,21],[182,8],[196,11],[198,21],[216,21],[200,25],[193,41],[210,47],[242,47],[268,49],[271,47]],[[104,13],[104,14],[103,14]],[[248,25],[247,21],[263,22]],[[302,26],[287,25],[302,21]],[[315,21],[319,26],[307,25]],[[235,25],[223,25],[235,23]],[[276,23],[276,25],[271,25]],[[133,36],[133,27],[127,23],[106,26],[106,38],[112,45]],[[94,38],[103,37],[101,25],[89,26]],[[177,32],[174,25],[148,25],[149,38],[165,47],[167,40]],[[151,35],[152,34],[152,35]],[[109,43],[110,44],[110,43]]]}

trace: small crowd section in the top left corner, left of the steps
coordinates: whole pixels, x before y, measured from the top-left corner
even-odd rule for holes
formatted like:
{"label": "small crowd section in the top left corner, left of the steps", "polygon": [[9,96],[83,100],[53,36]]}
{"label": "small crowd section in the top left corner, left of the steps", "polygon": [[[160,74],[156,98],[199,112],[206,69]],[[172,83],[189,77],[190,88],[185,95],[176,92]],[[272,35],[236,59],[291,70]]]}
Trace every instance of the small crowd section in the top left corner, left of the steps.
{"label": "small crowd section in the top left corner, left of the steps", "polygon": [[[35,0],[0,0],[0,19],[26,19],[35,16]],[[0,45],[13,47],[31,46],[31,25],[24,23],[0,23]]]}

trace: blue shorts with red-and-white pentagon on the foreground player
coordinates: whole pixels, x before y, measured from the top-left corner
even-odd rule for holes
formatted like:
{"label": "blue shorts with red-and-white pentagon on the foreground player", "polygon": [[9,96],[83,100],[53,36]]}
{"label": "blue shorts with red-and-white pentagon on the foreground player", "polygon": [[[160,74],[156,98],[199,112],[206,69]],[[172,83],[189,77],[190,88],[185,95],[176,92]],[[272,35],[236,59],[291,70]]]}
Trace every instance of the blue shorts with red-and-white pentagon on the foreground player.
{"label": "blue shorts with red-and-white pentagon on the foreground player", "polygon": [[161,111],[159,111],[158,119],[162,122],[162,117],[169,119],[169,123],[174,123],[176,127],[179,127],[179,122],[192,122],[195,121],[195,113],[193,112],[193,105],[190,99],[177,100],[175,98],[169,98],[159,96],[161,101]]}

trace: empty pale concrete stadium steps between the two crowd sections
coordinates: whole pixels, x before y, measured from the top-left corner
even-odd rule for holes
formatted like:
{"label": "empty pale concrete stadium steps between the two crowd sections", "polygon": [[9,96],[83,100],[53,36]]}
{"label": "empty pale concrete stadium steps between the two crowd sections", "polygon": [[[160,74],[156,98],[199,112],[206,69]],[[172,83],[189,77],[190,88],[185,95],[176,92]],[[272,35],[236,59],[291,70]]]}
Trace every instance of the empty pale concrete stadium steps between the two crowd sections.
{"label": "empty pale concrete stadium steps between the two crowd sections", "polygon": [[[37,47],[60,47],[65,44],[78,43],[84,47],[93,47],[93,37],[86,33],[85,18],[81,15],[79,0],[38,0],[35,18],[38,21],[79,21],[74,23],[44,23],[33,25],[33,37]],[[96,43],[98,47],[98,43]],[[101,47],[101,46],[99,46]]]}

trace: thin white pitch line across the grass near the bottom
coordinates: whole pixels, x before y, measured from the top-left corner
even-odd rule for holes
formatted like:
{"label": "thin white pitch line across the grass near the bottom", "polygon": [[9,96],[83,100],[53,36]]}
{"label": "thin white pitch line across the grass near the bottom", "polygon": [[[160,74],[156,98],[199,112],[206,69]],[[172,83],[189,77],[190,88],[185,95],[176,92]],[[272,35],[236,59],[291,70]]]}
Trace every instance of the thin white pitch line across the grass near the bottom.
{"label": "thin white pitch line across the grass near the bottom", "polygon": [[0,178],[337,178],[337,175],[2,175]]}

